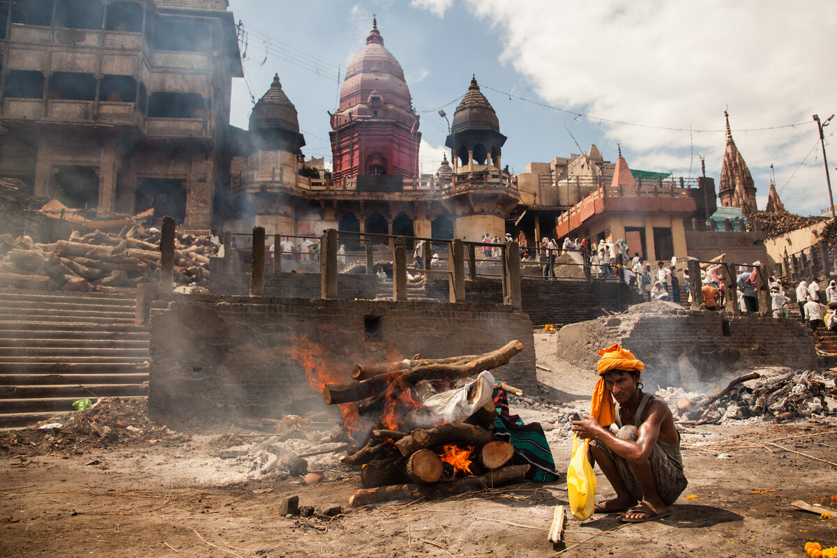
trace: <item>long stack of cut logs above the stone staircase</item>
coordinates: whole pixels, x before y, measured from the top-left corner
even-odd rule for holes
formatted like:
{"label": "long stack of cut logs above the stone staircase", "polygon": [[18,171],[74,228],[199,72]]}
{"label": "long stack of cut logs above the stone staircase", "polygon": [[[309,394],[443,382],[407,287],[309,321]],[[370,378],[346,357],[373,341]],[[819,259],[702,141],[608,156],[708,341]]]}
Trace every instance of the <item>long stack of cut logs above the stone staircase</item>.
{"label": "long stack of cut logs above the stone staircase", "polygon": [[[160,279],[160,233],[129,227],[119,234],[99,230],[69,240],[35,243],[27,236],[0,235],[0,287],[113,292]],[[208,237],[179,235],[175,243],[175,281],[208,283]]]}

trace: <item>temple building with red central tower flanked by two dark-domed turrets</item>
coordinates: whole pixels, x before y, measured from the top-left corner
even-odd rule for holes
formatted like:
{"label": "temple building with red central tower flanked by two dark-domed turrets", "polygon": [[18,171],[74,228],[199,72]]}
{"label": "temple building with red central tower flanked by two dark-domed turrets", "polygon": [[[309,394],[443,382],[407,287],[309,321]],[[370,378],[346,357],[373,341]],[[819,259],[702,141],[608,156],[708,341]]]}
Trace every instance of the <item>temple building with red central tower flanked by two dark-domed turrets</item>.
{"label": "temple building with red central tower flanked by two dark-domed turrets", "polygon": [[[479,240],[503,237],[519,195],[500,168],[506,136],[472,80],[454,114],[451,168],[419,176],[419,115],[403,69],[372,23],[366,45],[347,68],[331,114],[333,171],[303,164],[305,139],[277,76],[255,105],[249,131],[237,131],[230,217],[224,228],[267,234],[356,233]],[[380,243],[387,243],[380,239]],[[349,246],[351,248],[351,244]]]}

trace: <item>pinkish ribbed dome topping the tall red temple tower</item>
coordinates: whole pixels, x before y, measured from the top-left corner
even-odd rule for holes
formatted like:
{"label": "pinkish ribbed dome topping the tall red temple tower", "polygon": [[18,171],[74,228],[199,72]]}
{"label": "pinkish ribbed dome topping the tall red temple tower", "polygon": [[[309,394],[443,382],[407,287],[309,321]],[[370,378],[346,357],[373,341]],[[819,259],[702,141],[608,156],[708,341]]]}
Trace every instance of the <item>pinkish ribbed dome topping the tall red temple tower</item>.
{"label": "pinkish ribbed dome topping the tall red temple tower", "polygon": [[392,104],[413,113],[404,70],[393,54],[384,48],[383,37],[374,20],[366,46],[357,53],[346,70],[338,111],[369,102],[373,91],[380,96],[383,104]]}

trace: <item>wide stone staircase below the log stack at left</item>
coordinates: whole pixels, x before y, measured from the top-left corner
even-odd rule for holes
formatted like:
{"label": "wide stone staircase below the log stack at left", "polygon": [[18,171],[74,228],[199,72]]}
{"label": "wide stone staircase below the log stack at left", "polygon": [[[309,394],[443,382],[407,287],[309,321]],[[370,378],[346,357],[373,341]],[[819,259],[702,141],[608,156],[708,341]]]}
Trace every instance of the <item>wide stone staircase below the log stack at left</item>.
{"label": "wide stone staircase below the log stack at left", "polygon": [[146,397],[148,328],[136,295],[0,289],[0,427],[89,397]]}

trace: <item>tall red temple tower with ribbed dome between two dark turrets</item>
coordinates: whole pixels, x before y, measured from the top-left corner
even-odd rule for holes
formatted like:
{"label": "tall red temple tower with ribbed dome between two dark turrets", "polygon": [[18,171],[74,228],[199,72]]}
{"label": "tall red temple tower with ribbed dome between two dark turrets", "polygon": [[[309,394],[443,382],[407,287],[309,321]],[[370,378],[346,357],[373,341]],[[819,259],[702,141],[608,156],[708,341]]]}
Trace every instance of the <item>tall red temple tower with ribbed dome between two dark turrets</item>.
{"label": "tall red temple tower with ribbed dome between two dark turrets", "polygon": [[329,136],[336,186],[357,181],[361,192],[401,192],[403,182],[419,175],[419,116],[377,20],[346,70]]}

